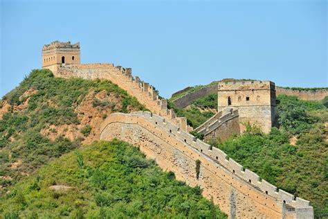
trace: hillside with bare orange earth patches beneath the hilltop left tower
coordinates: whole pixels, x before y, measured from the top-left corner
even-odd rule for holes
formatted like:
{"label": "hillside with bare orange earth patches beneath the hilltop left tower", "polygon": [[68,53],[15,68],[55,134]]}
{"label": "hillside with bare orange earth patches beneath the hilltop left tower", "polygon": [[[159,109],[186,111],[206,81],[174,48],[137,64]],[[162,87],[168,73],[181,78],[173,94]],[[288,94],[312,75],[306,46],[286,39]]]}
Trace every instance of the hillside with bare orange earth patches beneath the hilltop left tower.
{"label": "hillside with bare orange earth patches beneath the hilltop left tower", "polygon": [[46,69],[32,71],[1,103],[7,111],[0,119],[0,187],[96,139],[107,114],[145,109],[109,81],[54,78]]}

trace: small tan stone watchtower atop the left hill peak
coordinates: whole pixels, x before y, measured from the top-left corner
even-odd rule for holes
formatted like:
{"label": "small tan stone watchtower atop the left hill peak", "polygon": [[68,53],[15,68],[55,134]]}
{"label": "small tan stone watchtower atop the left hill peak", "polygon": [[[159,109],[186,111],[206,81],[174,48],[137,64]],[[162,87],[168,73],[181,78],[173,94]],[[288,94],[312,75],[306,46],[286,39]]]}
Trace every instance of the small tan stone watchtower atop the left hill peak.
{"label": "small tan stone watchtower atop the left hill peak", "polygon": [[62,64],[80,64],[80,42],[55,41],[42,48],[42,69],[50,69],[56,75]]}

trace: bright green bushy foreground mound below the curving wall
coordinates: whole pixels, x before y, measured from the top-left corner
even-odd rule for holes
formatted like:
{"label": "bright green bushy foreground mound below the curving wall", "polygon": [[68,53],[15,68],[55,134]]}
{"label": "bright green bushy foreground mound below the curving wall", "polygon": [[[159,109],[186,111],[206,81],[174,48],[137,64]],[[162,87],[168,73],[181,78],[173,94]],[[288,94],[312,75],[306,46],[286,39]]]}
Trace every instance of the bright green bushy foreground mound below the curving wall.
{"label": "bright green bushy foreground mound below the curving wall", "polygon": [[4,218],[226,218],[199,187],[118,140],[70,152],[10,189]]}

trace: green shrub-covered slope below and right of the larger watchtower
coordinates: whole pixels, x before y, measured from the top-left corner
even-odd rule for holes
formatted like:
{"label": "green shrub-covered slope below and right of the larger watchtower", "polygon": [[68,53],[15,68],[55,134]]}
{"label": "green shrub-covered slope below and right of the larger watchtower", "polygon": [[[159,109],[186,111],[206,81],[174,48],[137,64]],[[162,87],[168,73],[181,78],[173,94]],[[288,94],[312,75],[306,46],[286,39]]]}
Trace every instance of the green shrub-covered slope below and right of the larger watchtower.
{"label": "green shrub-covered slope below and right of the larger watchtower", "polygon": [[[328,215],[328,110],[326,101],[277,97],[280,129],[264,134],[247,126],[245,134],[209,143],[284,191],[309,200],[316,218]],[[295,145],[289,143],[297,137]]]}

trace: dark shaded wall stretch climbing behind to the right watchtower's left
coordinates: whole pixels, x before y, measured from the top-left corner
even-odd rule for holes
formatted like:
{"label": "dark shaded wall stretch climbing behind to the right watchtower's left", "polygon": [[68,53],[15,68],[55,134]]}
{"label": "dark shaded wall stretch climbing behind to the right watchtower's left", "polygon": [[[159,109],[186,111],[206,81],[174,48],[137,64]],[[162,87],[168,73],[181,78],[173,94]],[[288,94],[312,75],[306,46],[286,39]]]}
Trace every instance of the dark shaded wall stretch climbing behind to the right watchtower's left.
{"label": "dark shaded wall stretch climbing behind to the right watchtower's left", "polygon": [[190,103],[192,103],[193,100],[196,100],[197,98],[201,98],[203,96],[207,96],[209,94],[217,94],[217,85],[210,85],[208,87],[203,87],[201,89],[198,89],[197,91],[193,91],[189,94],[185,94],[176,100],[173,100],[174,105],[178,108],[183,108]]}

